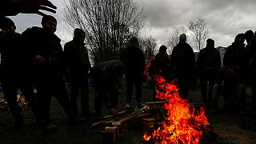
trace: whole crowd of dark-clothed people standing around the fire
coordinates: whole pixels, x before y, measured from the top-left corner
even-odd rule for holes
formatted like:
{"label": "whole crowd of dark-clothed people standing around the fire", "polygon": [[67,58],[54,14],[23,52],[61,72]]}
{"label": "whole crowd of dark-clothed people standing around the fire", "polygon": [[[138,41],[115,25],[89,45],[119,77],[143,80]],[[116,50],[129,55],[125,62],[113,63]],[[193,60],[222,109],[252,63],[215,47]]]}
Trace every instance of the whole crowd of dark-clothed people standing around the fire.
{"label": "whole crowd of dark-clothed people standing around the fire", "polygon": [[[47,130],[57,130],[50,121],[51,97],[58,100],[70,122],[90,116],[88,78],[91,78],[98,94],[94,100],[96,114],[102,114],[105,104],[110,114],[117,114],[118,84],[126,77],[126,109],[130,109],[133,88],[135,87],[137,106],[142,106],[143,72],[146,60],[139,48],[138,38],[130,38],[120,59],[100,62],[91,66],[86,46],[85,32],[74,30],[74,38],[66,42],[62,49],[61,40],[54,32],[57,20],[39,10],[55,12],[56,6],[46,0],[28,1],[21,4],[4,1],[9,9],[0,9],[0,53],[1,83],[6,101],[14,116],[15,126],[22,128],[22,114],[17,102],[17,90],[20,88],[26,100],[30,102],[36,122]],[[30,2],[30,5],[26,6]],[[33,6],[32,6],[33,4]],[[31,6],[33,8],[31,8]],[[18,9],[17,9],[18,7]],[[30,8],[28,8],[30,7]],[[31,27],[18,34],[16,26],[7,15],[18,13],[42,15],[42,27]],[[246,41],[246,45],[244,44]],[[238,34],[234,42],[227,47],[221,63],[220,53],[214,47],[214,40],[206,40],[206,48],[200,50],[195,61],[194,50],[186,42],[186,34],[179,36],[177,46],[171,55],[167,47],[160,46],[150,66],[150,75],[162,75],[167,81],[177,79],[181,98],[187,99],[189,90],[199,77],[202,102],[213,105],[219,112],[218,99],[223,95],[226,106],[235,106],[242,110],[246,103],[246,85],[251,87],[252,102],[256,103],[256,35],[252,30]],[[18,69],[18,70],[17,70]],[[20,71],[22,70],[22,71]],[[70,84],[71,94],[66,90]],[[207,87],[209,86],[209,90]],[[37,94],[34,94],[37,90]],[[79,93],[80,91],[80,93]],[[154,92],[155,94],[155,92]],[[78,110],[78,97],[81,108]],[[78,114],[81,111],[80,114]]]}

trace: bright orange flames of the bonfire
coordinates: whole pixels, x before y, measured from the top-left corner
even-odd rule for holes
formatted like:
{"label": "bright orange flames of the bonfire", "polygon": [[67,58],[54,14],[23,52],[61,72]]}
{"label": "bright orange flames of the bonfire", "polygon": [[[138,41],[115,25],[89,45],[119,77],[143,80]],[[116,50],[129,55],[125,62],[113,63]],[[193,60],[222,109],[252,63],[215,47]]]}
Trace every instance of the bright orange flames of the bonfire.
{"label": "bright orange flames of the bonfire", "polygon": [[202,138],[203,126],[210,124],[205,116],[204,108],[195,110],[187,100],[180,98],[174,82],[167,83],[160,76],[155,78],[157,85],[161,88],[161,90],[156,90],[156,98],[166,100],[164,108],[168,110],[168,118],[162,122],[158,130],[154,130],[151,135],[145,134],[143,138],[146,141],[149,141],[150,138],[156,141],[160,139],[162,144],[199,143]]}

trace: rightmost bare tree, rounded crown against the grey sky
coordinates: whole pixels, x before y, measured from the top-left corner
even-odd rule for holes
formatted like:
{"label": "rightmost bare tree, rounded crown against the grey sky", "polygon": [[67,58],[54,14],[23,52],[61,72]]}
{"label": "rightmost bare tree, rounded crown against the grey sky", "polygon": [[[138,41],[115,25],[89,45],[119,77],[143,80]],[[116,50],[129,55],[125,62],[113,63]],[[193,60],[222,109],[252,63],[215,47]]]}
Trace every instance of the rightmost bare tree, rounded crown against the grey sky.
{"label": "rightmost bare tree, rounded crown against the grey sky", "polygon": [[188,29],[192,32],[192,39],[197,50],[201,50],[206,44],[206,38],[209,38],[210,30],[206,25],[204,18],[197,18],[197,21],[189,21]]}

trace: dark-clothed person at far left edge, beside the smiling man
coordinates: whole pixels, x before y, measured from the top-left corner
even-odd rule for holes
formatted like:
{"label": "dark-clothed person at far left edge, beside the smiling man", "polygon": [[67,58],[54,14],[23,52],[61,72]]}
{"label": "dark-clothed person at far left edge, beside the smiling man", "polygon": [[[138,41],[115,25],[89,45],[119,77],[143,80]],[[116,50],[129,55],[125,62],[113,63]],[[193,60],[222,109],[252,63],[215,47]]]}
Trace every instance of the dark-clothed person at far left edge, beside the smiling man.
{"label": "dark-clothed person at far left edge, beside the smiling man", "polygon": [[16,26],[10,18],[0,18],[0,54],[3,94],[14,116],[16,128],[22,128],[23,117],[18,106],[18,89],[26,96],[34,111],[33,85],[30,81],[26,47],[22,45],[22,34],[15,32]]}

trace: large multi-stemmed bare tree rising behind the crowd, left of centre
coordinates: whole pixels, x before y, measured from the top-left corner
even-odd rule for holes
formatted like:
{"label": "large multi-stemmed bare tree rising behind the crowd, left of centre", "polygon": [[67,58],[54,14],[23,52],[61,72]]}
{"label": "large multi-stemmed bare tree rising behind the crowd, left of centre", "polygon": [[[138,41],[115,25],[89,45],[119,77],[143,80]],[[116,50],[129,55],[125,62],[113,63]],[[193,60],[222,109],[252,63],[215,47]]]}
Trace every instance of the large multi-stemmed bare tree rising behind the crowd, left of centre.
{"label": "large multi-stemmed bare tree rising behind the crowd, left of centre", "polygon": [[68,0],[65,21],[86,32],[86,46],[94,62],[117,59],[127,39],[137,36],[144,10],[132,0]]}

